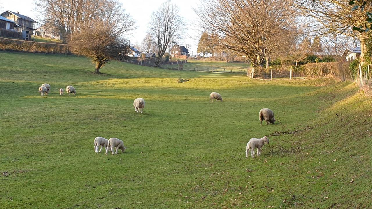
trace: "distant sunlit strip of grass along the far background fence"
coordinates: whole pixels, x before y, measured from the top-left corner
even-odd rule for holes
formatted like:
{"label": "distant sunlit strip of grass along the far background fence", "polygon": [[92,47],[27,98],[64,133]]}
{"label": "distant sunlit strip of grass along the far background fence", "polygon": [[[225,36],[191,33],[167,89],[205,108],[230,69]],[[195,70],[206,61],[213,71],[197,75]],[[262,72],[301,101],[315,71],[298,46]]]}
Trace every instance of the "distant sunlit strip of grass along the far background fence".
{"label": "distant sunlit strip of grass along the far background fence", "polygon": [[240,73],[246,71],[250,65],[245,62],[225,62],[225,61],[204,61],[204,60],[190,60],[190,62],[183,65],[184,70],[198,70],[198,71],[217,71],[217,72],[235,72]]}

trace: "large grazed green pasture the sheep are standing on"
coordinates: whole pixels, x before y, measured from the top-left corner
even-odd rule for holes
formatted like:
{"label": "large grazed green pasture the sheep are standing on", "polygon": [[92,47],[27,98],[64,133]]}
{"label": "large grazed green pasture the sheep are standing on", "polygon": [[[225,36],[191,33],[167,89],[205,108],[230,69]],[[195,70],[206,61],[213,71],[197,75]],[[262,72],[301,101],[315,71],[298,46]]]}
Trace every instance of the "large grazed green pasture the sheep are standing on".
{"label": "large grazed green pasture the sheep are standing on", "polygon": [[[0,52],[0,60],[0,208],[372,205],[372,102],[353,83],[123,62],[96,75],[88,59],[68,55]],[[38,94],[42,83],[48,96]],[[75,96],[58,94],[67,85]],[[224,102],[209,103],[211,91]],[[260,127],[263,107],[281,124]],[[313,126],[269,136],[260,157],[245,158],[252,137]],[[96,136],[128,148],[96,154]]]}

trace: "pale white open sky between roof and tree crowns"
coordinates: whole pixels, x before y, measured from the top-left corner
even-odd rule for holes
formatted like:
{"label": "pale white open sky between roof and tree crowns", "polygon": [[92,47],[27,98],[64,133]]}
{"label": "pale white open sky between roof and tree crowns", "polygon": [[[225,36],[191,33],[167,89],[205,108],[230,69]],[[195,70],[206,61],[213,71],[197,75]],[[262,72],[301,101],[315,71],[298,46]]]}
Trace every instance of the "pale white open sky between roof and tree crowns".
{"label": "pale white open sky between roof and tree crowns", "polygon": [[[118,0],[123,4],[126,13],[129,13],[134,20],[136,20],[137,29],[128,35],[131,44],[138,42],[141,43],[145,37],[148,27],[148,22],[151,20],[151,14],[158,10],[159,7],[166,0]],[[200,0],[172,0],[179,9],[179,15],[183,17],[185,22],[185,30],[182,33],[182,39],[178,44],[185,46],[186,43],[190,44],[189,52],[196,55],[196,48],[200,38],[200,28],[197,26],[199,17],[193,11],[193,8],[198,7]],[[2,7],[1,7],[2,6]],[[32,0],[0,0],[1,13],[10,10],[12,12],[19,12],[21,15],[26,15],[38,21],[41,16],[37,12]]]}

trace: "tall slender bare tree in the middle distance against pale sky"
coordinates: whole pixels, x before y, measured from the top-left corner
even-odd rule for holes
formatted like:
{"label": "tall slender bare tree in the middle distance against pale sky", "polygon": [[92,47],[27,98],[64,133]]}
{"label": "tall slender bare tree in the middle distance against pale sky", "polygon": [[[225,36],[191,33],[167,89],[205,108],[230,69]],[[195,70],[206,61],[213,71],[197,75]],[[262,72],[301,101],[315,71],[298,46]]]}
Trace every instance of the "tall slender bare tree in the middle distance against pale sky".
{"label": "tall slender bare tree in the middle distance against pale sky", "polygon": [[152,15],[149,23],[149,33],[157,47],[155,67],[159,66],[167,48],[180,38],[184,24],[178,13],[178,7],[168,0]]}

